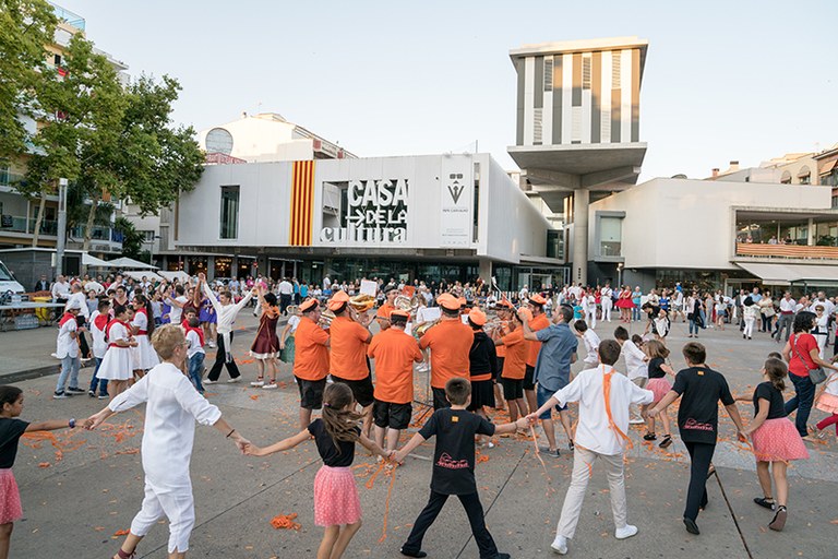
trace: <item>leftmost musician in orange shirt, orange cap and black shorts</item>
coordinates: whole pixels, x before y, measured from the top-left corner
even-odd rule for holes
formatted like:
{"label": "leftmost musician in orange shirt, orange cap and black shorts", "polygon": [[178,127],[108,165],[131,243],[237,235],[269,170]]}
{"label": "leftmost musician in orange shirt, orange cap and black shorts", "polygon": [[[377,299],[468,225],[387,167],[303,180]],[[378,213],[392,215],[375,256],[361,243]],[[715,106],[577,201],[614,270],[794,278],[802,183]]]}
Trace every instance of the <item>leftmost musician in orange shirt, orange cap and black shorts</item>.
{"label": "leftmost musician in orange shirt, orange cap and black shorts", "polygon": [[295,334],[294,377],[300,391],[300,430],[308,429],[312,409],[323,407],[328,374],[328,332],[320,328],[320,305],[307,299],[299,307]]}

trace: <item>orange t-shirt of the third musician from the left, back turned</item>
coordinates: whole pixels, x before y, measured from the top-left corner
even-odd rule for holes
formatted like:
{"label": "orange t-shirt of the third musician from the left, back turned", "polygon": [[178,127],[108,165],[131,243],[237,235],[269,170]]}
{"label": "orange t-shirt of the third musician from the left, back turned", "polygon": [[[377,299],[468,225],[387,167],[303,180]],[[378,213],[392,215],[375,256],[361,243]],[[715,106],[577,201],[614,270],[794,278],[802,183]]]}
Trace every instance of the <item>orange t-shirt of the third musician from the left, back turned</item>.
{"label": "orange t-shirt of the third musician from the left, back turned", "polygon": [[409,404],[414,400],[414,361],[422,360],[416,338],[388,328],[372,337],[367,355],[375,359],[375,400]]}

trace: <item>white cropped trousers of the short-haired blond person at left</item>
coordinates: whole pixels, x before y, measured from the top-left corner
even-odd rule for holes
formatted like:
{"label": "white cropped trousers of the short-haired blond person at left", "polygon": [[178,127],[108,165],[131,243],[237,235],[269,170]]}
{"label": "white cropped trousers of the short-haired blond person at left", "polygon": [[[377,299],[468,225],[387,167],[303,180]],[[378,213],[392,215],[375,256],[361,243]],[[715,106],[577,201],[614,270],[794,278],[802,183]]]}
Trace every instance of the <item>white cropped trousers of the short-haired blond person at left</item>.
{"label": "white cropped trousers of the short-haired blond person at left", "polygon": [[145,536],[166,516],[169,519],[169,552],[183,552],[189,549],[189,536],[195,526],[195,507],[192,498],[192,485],[176,487],[155,487],[145,478],[145,498],[143,507],[131,522],[131,533]]}

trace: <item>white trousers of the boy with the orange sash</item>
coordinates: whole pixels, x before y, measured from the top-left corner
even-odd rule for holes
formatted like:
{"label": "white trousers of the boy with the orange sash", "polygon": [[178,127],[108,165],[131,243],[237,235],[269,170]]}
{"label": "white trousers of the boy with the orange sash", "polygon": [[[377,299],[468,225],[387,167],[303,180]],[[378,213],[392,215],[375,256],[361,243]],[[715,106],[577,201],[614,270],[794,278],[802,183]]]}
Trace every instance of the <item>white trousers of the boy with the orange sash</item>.
{"label": "white trousers of the boy with the orange sash", "polygon": [[608,477],[608,488],[611,493],[611,512],[614,515],[614,527],[622,528],[626,525],[627,509],[625,504],[625,477],[623,476],[623,455],[622,454],[599,454],[597,452],[583,449],[576,445],[573,452],[573,475],[571,485],[567,487],[567,493],[564,496],[564,506],[562,506],[562,516],[559,519],[559,525],[555,527],[558,536],[564,536],[568,539],[576,533],[576,524],[579,522],[582,513],[582,503],[585,500],[585,492],[588,487],[592,464],[596,459],[600,459],[606,467]]}

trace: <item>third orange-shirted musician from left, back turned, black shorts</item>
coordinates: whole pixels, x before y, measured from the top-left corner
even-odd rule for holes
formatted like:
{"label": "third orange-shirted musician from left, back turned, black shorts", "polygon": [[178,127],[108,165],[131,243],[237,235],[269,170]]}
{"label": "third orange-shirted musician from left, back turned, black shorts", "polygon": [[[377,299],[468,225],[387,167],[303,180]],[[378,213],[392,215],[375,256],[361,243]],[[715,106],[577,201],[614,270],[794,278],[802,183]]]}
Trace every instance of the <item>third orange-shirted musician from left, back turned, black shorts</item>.
{"label": "third orange-shirted musician from left, back turned, black shorts", "polygon": [[423,357],[414,336],[405,333],[407,311],[390,313],[391,328],[373,336],[367,355],[375,359],[375,442],[386,450],[398,447],[398,437],[407,429],[414,413],[414,362]]}

